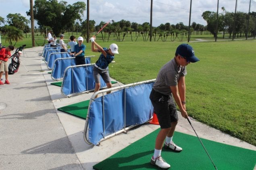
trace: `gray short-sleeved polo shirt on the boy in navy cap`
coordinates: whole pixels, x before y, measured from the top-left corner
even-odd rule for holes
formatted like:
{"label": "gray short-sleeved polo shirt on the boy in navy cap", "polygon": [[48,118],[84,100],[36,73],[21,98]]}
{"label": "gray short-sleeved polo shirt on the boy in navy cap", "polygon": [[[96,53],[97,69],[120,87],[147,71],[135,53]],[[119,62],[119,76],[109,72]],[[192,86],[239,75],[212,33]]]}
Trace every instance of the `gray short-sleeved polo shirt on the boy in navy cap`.
{"label": "gray short-sleeved polo shirt on the boy in navy cap", "polygon": [[171,95],[170,86],[178,85],[181,76],[185,75],[187,75],[186,67],[178,66],[173,58],[160,69],[153,89],[164,95]]}

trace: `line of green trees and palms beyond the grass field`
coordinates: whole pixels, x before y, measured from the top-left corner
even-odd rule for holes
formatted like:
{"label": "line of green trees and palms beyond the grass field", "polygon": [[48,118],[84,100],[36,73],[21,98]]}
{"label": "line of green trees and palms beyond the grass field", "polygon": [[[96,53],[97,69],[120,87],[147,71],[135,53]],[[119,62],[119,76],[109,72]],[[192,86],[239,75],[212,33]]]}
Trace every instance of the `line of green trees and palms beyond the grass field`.
{"label": "line of green trees and palms beyond the grass field", "polygon": [[[171,37],[172,41],[183,41],[183,38],[188,38],[188,30],[190,34],[203,34],[209,31],[213,36],[217,36],[218,32],[225,32],[229,34],[229,38],[233,34],[239,36],[255,36],[256,28],[256,12],[244,13],[237,12],[236,17],[233,12],[228,12],[224,7],[223,11],[219,14],[218,19],[218,31],[216,30],[216,12],[205,11],[202,14],[202,18],[206,20],[207,25],[197,24],[192,22],[190,29],[189,26],[185,26],[183,22],[177,24],[160,24],[159,26],[152,27],[152,38],[154,41],[166,41],[168,37]],[[35,0],[33,6],[34,19],[37,20],[39,27],[35,27],[35,32],[40,32],[46,37],[46,30],[52,30],[56,36],[64,34],[65,32],[81,32],[81,36],[86,37],[87,32],[87,20],[82,20],[83,12],[86,10],[86,4],[84,2],[75,2],[74,4],[67,4],[65,1],[58,0]],[[30,10],[27,15],[30,16]],[[27,36],[27,33],[31,32],[28,24],[30,23],[21,14],[8,14],[7,20],[4,20],[0,16],[0,24],[5,24],[0,27],[1,34],[6,36],[6,41],[12,45],[12,41],[15,43],[22,40],[23,33]],[[247,27],[247,24],[248,27]],[[100,30],[105,23],[102,21],[96,25],[94,20],[89,20],[89,33]],[[234,28],[235,26],[235,28]],[[248,32],[247,32],[248,30]],[[148,41],[150,37],[150,23],[144,22],[138,24],[136,22],[130,22],[128,20],[120,20],[118,22],[112,22],[104,28],[101,33],[102,40],[109,40],[110,35],[114,36],[119,41],[123,41],[125,37],[129,36],[132,41],[137,41],[138,37],[143,38],[144,41]],[[135,33],[135,36],[134,36]],[[134,37],[133,37],[134,36]]]}

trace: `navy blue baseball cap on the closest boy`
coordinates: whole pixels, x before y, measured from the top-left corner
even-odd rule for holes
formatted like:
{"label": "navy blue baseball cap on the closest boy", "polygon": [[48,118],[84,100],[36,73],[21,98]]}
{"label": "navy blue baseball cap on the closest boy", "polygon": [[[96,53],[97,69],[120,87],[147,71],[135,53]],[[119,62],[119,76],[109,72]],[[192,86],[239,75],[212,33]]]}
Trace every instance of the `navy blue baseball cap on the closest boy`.
{"label": "navy blue baseball cap on the closest boy", "polygon": [[194,49],[188,44],[179,45],[176,49],[175,54],[176,55],[181,55],[182,57],[186,57],[187,61],[189,61],[191,63],[195,63],[197,61],[200,61],[200,59],[198,59],[195,56]]}

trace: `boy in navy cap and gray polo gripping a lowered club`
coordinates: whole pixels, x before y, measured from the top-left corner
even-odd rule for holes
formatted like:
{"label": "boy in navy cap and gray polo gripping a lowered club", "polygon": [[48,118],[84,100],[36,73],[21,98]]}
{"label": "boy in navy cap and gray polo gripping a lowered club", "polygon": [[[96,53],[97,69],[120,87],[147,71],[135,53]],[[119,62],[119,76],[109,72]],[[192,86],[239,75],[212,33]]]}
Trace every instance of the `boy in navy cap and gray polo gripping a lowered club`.
{"label": "boy in navy cap and gray polo gripping a lowered club", "polygon": [[165,148],[175,152],[182,151],[181,147],[173,143],[173,134],[178,123],[175,102],[179,106],[182,117],[187,118],[188,115],[185,105],[186,66],[190,62],[195,63],[197,61],[199,59],[195,56],[194,49],[190,45],[179,45],[176,49],[175,57],[160,69],[150,93],[150,100],[154,106],[154,111],[161,128],[156,137],[154,155],[150,163],[158,166],[158,168],[168,169],[171,167],[161,157],[163,144]]}

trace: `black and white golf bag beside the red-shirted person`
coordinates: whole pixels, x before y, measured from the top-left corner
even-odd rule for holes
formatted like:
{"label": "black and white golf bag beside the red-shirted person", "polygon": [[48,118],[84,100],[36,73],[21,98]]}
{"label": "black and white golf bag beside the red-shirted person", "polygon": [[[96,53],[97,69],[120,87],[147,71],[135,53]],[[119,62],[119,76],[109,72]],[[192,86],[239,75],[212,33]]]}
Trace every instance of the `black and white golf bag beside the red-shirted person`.
{"label": "black and white golf bag beside the red-shirted person", "polygon": [[26,45],[22,45],[21,47],[19,47],[18,49],[16,49],[15,53],[10,57],[11,63],[8,66],[8,74],[14,74],[19,70],[19,66],[20,66],[20,55],[21,55],[21,51],[24,49]]}

